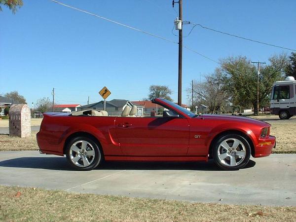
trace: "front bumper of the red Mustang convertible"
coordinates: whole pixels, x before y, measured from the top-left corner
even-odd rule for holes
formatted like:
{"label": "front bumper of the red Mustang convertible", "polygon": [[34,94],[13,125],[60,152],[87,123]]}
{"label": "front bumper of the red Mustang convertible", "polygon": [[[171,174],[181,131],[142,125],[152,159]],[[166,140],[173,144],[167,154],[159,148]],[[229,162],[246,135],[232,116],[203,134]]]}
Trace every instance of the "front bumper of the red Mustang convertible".
{"label": "front bumper of the red Mustang convertible", "polygon": [[274,136],[269,136],[265,139],[259,139],[258,145],[255,148],[255,158],[269,156],[271,154],[272,148],[275,148],[276,138]]}

